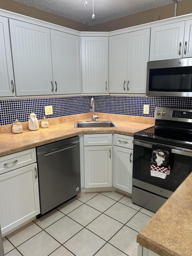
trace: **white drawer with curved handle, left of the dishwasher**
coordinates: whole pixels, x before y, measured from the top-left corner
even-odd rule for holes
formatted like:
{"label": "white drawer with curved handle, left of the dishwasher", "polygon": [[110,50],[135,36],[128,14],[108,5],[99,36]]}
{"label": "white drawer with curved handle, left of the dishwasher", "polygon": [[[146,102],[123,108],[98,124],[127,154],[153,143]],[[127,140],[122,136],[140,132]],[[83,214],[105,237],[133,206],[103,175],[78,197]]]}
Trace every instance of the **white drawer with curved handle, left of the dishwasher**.
{"label": "white drawer with curved handle, left of the dishwasher", "polygon": [[35,148],[0,157],[0,174],[36,162]]}

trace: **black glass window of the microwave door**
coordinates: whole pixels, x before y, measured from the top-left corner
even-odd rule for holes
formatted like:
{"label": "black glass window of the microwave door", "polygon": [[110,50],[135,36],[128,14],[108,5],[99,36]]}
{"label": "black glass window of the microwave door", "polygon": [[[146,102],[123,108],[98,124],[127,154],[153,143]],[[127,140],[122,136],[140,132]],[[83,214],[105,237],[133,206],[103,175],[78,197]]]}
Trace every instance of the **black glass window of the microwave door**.
{"label": "black glass window of the microwave door", "polygon": [[150,69],[149,91],[192,92],[192,66]]}

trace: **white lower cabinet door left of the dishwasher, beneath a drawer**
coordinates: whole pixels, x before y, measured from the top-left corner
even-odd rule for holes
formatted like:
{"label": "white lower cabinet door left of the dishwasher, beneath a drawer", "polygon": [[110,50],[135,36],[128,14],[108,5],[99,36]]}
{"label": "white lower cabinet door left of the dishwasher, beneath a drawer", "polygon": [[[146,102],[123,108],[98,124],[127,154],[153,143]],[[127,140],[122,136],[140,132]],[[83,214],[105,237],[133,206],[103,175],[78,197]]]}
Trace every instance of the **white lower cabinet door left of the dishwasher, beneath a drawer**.
{"label": "white lower cabinet door left of the dishwasher, beneath a drawer", "polygon": [[37,164],[1,174],[0,194],[2,234],[38,215],[40,204]]}

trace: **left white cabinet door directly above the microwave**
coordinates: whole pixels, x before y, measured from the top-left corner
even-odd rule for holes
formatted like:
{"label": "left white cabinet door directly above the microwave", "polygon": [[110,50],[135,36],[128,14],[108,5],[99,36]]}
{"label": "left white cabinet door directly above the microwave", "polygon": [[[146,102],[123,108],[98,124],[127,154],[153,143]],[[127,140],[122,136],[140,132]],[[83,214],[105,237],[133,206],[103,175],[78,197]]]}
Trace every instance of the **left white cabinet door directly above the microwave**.
{"label": "left white cabinet door directly above the microwave", "polygon": [[182,58],[185,22],[151,29],[150,61]]}

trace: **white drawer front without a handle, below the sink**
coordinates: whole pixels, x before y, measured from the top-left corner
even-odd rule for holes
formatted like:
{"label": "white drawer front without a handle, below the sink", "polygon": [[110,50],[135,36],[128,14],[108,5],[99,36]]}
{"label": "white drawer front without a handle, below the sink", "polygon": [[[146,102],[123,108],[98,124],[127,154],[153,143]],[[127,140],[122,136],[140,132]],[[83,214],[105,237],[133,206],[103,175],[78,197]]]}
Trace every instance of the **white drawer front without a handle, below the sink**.
{"label": "white drawer front without a handle, below the sink", "polygon": [[112,134],[85,134],[84,146],[112,145]]}

